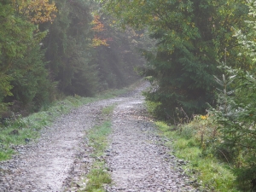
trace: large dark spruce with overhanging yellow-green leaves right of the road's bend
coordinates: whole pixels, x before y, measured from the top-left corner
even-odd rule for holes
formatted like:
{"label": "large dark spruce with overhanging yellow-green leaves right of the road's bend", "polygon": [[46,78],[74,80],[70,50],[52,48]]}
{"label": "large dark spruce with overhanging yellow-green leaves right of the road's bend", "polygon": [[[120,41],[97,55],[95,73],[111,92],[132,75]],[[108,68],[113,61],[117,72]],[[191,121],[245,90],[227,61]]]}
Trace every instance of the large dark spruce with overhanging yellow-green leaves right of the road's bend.
{"label": "large dark spruce with overhanging yellow-green leaves right of the road's bend", "polygon": [[[244,26],[244,1],[101,2],[121,18],[121,26],[145,27],[157,41],[153,51],[143,51],[148,60],[144,75],[154,85],[146,96],[148,101],[160,103],[157,115],[173,121],[176,108],[189,116],[205,113],[206,103],[214,100],[212,74],[218,73],[217,60],[224,57],[224,48],[237,44],[231,26]],[[237,49],[229,52],[234,65],[239,63],[234,59],[237,53]]]}

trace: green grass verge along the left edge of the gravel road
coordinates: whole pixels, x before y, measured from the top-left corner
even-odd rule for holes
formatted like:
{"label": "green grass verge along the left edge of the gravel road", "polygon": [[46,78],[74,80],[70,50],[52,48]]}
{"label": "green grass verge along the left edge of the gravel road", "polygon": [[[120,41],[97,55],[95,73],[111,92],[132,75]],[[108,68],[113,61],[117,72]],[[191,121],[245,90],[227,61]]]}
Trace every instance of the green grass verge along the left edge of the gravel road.
{"label": "green grass verge along the left edge of the gravel road", "polygon": [[[129,88],[122,90],[108,90],[95,97],[67,96],[62,101],[57,101],[49,106],[43,106],[38,113],[32,113],[26,118],[12,118],[0,125],[0,161],[9,160],[15,150],[15,145],[25,145],[27,141],[35,140],[39,137],[39,132],[43,127],[50,126],[52,122],[63,113],[69,113],[73,108],[78,108],[90,102],[108,99],[124,94],[132,90],[137,84],[132,84]],[[113,110],[110,106],[102,113],[110,113]]]}

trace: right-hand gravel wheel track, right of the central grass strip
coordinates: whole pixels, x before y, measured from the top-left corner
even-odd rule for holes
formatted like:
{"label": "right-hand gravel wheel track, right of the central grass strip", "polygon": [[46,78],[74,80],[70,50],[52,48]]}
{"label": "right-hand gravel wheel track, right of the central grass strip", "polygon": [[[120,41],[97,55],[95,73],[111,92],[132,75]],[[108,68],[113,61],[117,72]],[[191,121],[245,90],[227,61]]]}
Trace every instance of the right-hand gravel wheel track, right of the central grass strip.
{"label": "right-hand gravel wheel track, right of the central grass strip", "polygon": [[140,92],[115,108],[109,140],[108,166],[114,184],[108,191],[195,191],[186,184],[189,179],[178,169],[177,159],[160,144]]}

